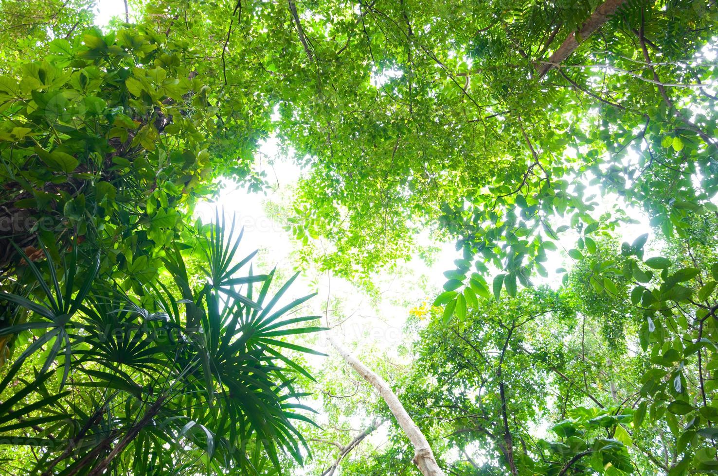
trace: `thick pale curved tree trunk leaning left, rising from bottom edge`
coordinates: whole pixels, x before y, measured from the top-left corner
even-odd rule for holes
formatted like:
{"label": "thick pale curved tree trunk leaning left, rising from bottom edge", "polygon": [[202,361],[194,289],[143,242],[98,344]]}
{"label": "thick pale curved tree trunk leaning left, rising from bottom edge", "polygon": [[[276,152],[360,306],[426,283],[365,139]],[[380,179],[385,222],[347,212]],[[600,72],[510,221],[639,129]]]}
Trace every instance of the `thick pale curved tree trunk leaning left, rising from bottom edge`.
{"label": "thick pale curved tree trunk leaning left, rising from bottom edge", "polygon": [[389,384],[376,373],[370,371],[367,366],[361,363],[361,361],[349,353],[349,351],[340,346],[331,335],[329,336],[329,342],[337,349],[337,352],[340,353],[350,367],[362,376],[365,381],[368,381],[386,402],[394,418],[396,418],[399,427],[404,430],[404,433],[409,437],[409,441],[411,441],[411,444],[414,446],[414,464],[419,468],[421,474],[424,476],[444,476],[444,472],[439,468],[437,460],[434,458],[432,447],[429,446],[429,442],[426,441],[426,437],[421,433],[419,427],[416,426],[414,420],[406,413],[404,405],[396,398],[396,394],[391,390]]}

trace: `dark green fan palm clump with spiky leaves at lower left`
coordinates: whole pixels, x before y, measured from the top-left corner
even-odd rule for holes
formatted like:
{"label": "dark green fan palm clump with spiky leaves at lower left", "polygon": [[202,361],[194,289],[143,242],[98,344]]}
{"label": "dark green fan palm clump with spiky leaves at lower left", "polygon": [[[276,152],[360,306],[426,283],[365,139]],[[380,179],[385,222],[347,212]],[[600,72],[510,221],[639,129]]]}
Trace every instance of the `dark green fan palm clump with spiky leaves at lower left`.
{"label": "dark green fan palm clump with spiky leaves at lower left", "polygon": [[[0,333],[37,333],[4,369],[0,438],[42,447],[37,470],[65,475],[272,474],[282,452],[301,462],[307,445],[292,421],[311,420],[293,382],[309,374],[284,352],[316,352],[283,338],[322,328],[288,316],[311,295],[276,309],[296,275],[274,295],[274,271],[238,275],[254,255],[235,259],[240,240],[218,217],[194,247],[207,281],[192,284],[175,246],[164,260],[172,282],[135,282],[141,296],[96,267],[80,273],[75,258],[60,272],[49,254],[46,272],[27,260],[37,290],[0,294],[32,315]],[[29,426],[32,440],[18,431]]]}

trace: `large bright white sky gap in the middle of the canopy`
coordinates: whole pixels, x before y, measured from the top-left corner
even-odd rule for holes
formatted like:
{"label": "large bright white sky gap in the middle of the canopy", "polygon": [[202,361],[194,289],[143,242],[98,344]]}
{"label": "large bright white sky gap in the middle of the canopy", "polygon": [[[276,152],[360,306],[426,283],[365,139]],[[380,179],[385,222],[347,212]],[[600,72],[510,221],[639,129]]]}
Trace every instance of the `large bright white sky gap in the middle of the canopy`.
{"label": "large bright white sky gap in the middle of the canopy", "polygon": [[[271,183],[279,182],[279,188],[264,194],[248,193],[238,189],[233,184],[221,192],[215,203],[206,202],[197,207],[197,214],[202,221],[208,221],[215,215],[217,209],[224,211],[230,219],[236,215],[238,222],[245,227],[245,250],[260,249],[258,262],[269,270],[279,265],[286,275],[296,266],[293,262],[292,251],[297,249],[297,243],[290,237],[281,224],[274,222],[267,216],[264,205],[275,202],[281,203],[289,196],[300,176],[299,168],[289,159],[278,157],[276,144],[273,141],[265,143],[261,148],[266,157],[275,158],[274,167],[265,169]],[[275,174],[276,173],[276,174]],[[434,298],[434,290],[444,284],[442,272],[452,267],[456,258],[453,245],[447,245],[446,252],[432,267],[426,266],[419,259],[406,264],[400,273],[380,273],[376,282],[380,283],[381,298],[378,302],[362,292],[352,283],[338,277],[330,277],[327,273],[320,273],[314,267],[302,269],[301,279],[293,285],[292,298],[297,298],[309,292],[318,292],[310,305],[311,313],[323,315],[327,302],[327,295],[331,295],[330,320],[339,320],[342,317],[352,317],[342,325],[342,335],[349,342],[356,342],[365,348],[376,346],[382,350],[396,350],[400,343],[406,343],[401,330],[406,321],[412,304],[419,304],[424,300]],[[337,301],[338,302],[335,302]],[[310,301],[311,303],[311,301]],[[337,305],[339,306],[337,308]],[[334,312],[331,312],[331,310]],[[308,311],[307,311],[308,312]],[[324,346],[323,340],[317,344]],[[326,351],[327,349],[325,349]]]}

